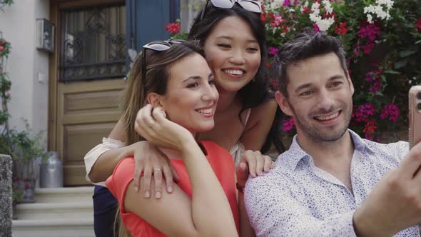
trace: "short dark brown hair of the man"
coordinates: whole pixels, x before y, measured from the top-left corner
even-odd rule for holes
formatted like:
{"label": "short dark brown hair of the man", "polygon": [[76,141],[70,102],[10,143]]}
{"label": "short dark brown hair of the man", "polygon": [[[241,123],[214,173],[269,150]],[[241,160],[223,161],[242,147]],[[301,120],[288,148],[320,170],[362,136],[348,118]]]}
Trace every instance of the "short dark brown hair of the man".
{"label": "short dark brown hair of the man", "polygon": [[273,70],[280,93],[288,98],[287,86],[290,80],[286,70],[288,66],[304,59],[332,52],[338,56],[340,66],[346,76],[348,69],[341,39],[328,36],[325,33],[305,30],[295,36],[295,39],[283,44],[273,61]]}

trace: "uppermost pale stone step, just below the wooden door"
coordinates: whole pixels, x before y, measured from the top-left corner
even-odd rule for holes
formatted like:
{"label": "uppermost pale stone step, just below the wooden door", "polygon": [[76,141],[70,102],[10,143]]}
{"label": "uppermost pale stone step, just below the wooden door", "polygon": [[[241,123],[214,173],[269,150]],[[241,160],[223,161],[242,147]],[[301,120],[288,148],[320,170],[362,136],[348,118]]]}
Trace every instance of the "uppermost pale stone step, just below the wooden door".
{"label": "uppermost pale stone step, just below the wooden door", "polygon": [[65,203],[77,201],[91,201],[93,186],[74,188],[36,188],[36,203]]}

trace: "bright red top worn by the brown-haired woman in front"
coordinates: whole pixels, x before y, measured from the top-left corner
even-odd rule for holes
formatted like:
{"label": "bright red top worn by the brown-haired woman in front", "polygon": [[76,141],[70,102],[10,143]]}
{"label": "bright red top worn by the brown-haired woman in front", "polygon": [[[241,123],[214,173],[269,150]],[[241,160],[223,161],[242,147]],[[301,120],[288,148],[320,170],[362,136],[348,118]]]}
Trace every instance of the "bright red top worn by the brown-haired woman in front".
{"label": "bright red top worn by the brown-haired woman in front", "polygon": [[[238,202],[235,194],[235,166],[230,153],[224,148],[218,146],[212,141],[201,141],[200,142],[207,151],[206,158],[213,171],[215,172],[220,185],[225,191],[225,195],[230,203],[231,211],[233,212],[235,225],[239,230],[239,213],[238,213]],[[186,192],[188,196],[192,196],[192,189],[190,178],[184,161],[181,159],[171,159],[173,167],[176,169],[180,180],[178,186]],[[151,226],[148,222],[144,221],[143,218],[136,216],[134,213],[126,213],[124,211],[124,198],[126,196],[126,189],[128,185],[133,181],[133,173],[135,168],[135,161],[133,158],[124,158],[121,160],[116,168],[114,169],[113,175],[107,178],[106,186],[116,197],[120,204],[120,214],[124,225],[127,230],[131,232],[133,237],[136,236],[165,236],[161,231]]]}

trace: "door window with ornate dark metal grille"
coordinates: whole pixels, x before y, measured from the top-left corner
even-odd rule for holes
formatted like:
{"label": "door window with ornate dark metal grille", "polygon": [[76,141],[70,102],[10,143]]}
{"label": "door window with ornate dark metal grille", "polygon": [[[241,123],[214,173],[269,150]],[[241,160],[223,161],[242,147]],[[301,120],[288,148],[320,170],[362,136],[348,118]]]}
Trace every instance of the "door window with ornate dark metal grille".
{"label": "door window with ornate dark metal grille", "polygon": [[59,81],[126,74],[126,6],[61,11]]}

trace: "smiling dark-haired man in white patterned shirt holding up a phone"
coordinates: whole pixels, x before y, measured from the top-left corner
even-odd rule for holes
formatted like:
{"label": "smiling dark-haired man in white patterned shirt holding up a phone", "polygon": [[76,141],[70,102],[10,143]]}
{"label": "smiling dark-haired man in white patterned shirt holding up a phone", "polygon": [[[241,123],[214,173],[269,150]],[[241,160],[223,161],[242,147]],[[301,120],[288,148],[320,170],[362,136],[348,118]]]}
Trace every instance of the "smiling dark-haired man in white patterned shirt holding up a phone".
{"label": "smiling dark-haired man in white patterned shirt holding up a phone", "polygon": [[408,153],[406,142],[348,129],[354,87],[340,39],[300,34],[274,68],[276,101],[297,135],[270,173],[245,186],[256,235],[420,236],[421,143]]}

